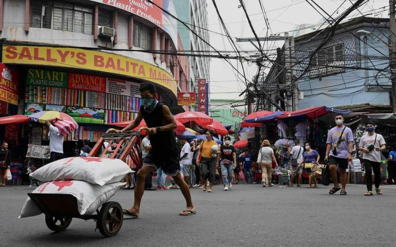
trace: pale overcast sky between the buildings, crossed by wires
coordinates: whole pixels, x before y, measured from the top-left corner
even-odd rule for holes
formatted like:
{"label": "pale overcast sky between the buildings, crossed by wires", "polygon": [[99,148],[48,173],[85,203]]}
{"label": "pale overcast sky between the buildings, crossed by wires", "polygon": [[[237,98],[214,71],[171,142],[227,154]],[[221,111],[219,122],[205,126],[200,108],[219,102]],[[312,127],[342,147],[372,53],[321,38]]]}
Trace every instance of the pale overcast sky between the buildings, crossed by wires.
{"label": "pale overcast sky between the buildings, crossed by wires", "polygon": [[[212,0],[206,0],[208,5],[208,29],[213,32],[223,33],[220,26],[216,10]],[[247,12],[252,21],[255,32],[259,37],[266,35],[267,28],[264,23],[264,17],[260,9],[259,0],[244,0],[247,6]],[[288,32],[293,34],[293,30],[300,24],[317,24],[321,23],[323,17],[316,12],[305,0],[261,0],[267,17],[269,19],[270,30],[268,34],[281,34]],[[339,8],[344,0],[315,0],[327,13],[331,14]],[[352,5],[351,2],[355,0],[346,0],[339,8],[338,13],[334,16],[340,15],[345,9]],[[233,38],[247,38],[253,37],[253,33],[247,23],[243,8],[238,8],[239,0],[216,0],[221,17],[223,18],[230,35]],[[385,6],[386,11],[382,11],[381,7]],[[389,0],[369,0],[362,7],[359,8],[363,14],[374,13],[376,17],[387,18],[389,16]],[[374,16],[371,15],[371,16]],[[323,15],[326,15],[323,13]],[[347,19],[361,16],[357,11],[352,12]],[[217,50],[232,50],[227,38],[209,32],[210,44]],[[248,42],[238,43],[241,50],[254,50]],[[281,47],[283,42],[263,43],[267,49],[276,49]],[[233,54],[233,53],[230,53]],[[235,67],[238,66],[241,71],[241,65],[235,61],[231,61]],[[244,63],[244,68],[247,73],[247,78],[251,79],[257,68],[252,64]],[[210,64],[210,98],[212,99],[241,99],[238,97],[241,90],[246,87],[237,79],[236,72],[223,59],[214,58]]]}

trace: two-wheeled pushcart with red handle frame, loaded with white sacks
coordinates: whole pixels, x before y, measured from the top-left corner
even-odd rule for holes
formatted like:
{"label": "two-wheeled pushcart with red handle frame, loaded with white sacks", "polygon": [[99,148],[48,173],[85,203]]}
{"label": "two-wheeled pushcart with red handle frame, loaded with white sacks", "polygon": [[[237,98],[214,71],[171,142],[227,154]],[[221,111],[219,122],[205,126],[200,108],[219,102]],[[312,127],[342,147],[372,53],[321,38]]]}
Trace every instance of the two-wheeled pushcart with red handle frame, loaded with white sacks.
{"label": "two-wheeled pushcart with red handle frame, loaded with white sacks", "polygon": [[[140,131],[112,133],[110,129],[101,136],[89,156],[120,159],[124,162],[130,156],[137,166],[141,167],[139,137]],[[28,196],[44,212],[46,224],[52,231],[65,230],[72,218],[95,220],[96,229],[99,229],[105,237],[113,237],[121,229],[123,212],[117,202],[104,203],[96,210],[97,214],[81,215],[78,211],[77,199],[72,195],[28,193]]]}

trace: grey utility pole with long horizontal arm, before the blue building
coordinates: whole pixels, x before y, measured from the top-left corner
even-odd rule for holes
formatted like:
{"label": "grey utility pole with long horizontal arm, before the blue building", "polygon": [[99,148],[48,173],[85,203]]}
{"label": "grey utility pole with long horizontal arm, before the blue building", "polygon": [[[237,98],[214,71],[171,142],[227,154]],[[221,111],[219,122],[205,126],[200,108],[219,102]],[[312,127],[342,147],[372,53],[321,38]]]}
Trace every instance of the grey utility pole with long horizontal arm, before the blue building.
{"label": "grey utility pole with long horizontal arm, before the blue building", "polygon": [[[298,110],[298,82],[295,80],[295,69],[292,67],[296,63],[294,59],[294,37],[289,36],[289,33],[285,33],[284,36],[269,36],[269,37],[258,37],[259,41],[285,41],[285,68],[286,70],[286,82],[282,85],[288,85],[286,88],[286,111]],[[237,42],[251,42],[254,45],[256,38],[237,38]],[[293,83],[292,83],[293,82]],[[268,96],[268,95],[267,95]],[[248,102],[247,102],[248,103]]]}

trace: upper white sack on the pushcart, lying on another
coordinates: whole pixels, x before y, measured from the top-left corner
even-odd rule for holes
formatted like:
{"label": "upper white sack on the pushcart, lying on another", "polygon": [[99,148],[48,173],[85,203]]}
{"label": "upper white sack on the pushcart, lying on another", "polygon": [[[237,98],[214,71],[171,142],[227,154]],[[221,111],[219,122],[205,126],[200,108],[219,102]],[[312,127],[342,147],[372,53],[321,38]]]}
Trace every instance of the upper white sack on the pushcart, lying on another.
{"label": "upper white sack on the pushcart, lying on another", "polygon": [[119,182],[131,168],[118,159],[97,157],[72,157],[44,165],[31,177],[42,181],[82,180],[92,184],[110,184]]}

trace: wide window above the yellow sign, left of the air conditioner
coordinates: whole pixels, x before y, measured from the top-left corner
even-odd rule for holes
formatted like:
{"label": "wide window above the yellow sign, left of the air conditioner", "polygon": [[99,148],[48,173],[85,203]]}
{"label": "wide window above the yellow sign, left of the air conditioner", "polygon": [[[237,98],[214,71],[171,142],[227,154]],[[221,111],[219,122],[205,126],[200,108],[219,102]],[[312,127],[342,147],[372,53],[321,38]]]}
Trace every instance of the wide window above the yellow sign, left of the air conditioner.
{"label": "wide window above the yellow sign, left of the air conditioner", "polygon": [[69,3],[32,0],[30,26],[92,35],[93,12]]}

